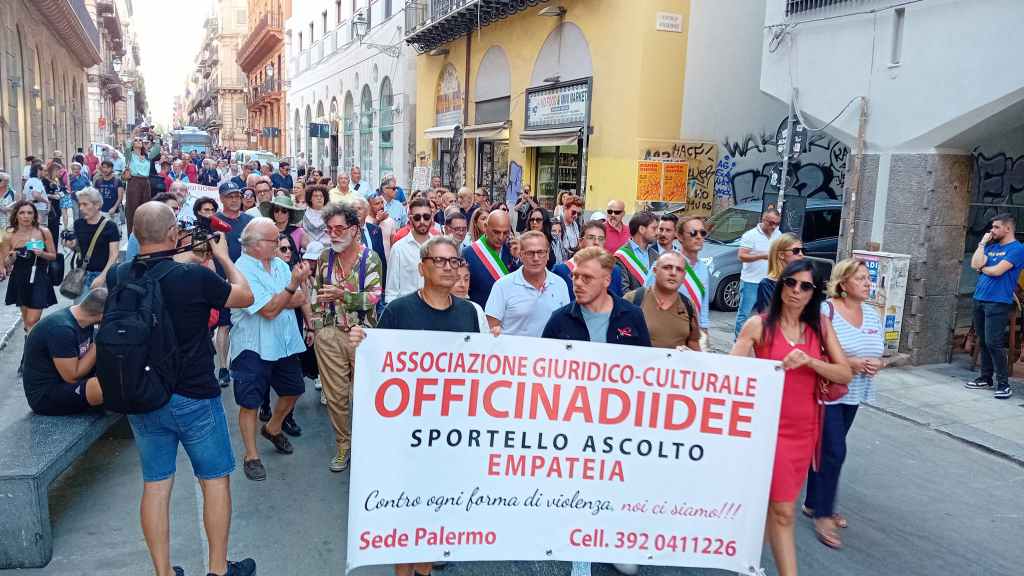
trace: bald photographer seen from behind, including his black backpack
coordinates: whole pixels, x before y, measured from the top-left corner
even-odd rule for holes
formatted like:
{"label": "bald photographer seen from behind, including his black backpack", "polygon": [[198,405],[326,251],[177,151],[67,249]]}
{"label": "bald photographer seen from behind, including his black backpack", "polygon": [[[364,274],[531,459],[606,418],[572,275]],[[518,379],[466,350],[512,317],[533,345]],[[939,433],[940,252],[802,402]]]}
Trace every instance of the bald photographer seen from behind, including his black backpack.
{"label": "bald photographer seen from behind, including his black backpack", "polygon": [[96,375],[106,409],[128,414],[142,464],[142,534],[158,576],[183,574],[170,563],[170,499],[178,444],[185,447],[204,499],[209,574],[249,576],[252,559],[227,561],[234,469],[220,386],[213,373],[210,311],[252,305],[222,236],[209,249],[227,280],[172,260],[174,212],[146,202],[134,216],[139,255],[111,271],[96,335]]}

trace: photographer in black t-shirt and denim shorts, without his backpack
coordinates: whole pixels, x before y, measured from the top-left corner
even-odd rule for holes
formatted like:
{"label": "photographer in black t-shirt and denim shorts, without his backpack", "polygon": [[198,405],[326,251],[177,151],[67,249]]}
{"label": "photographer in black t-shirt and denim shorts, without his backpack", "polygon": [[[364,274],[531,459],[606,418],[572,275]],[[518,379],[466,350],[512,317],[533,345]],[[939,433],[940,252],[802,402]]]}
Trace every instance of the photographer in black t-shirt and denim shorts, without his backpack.
{"label": "photographer in black t-shirt and denim shorts, without his backpack", "polygon": [[[166,204],[142,204],[135,211],[134,220],[140,256],[175,248],[177,222]],[[229,479],[234,469],[234,455],[220,403],[220,386],[213,373],[213,349],[207,331],[210,310],[251,305],[253,294],[228,257],[223,237],[211,241],[210,246],[226,281],[201,265],[177,264],[160,283],[181,355],[174,394],[162,408],[128,416],[142,461],[142,534],[157,576],[184,574],[170,562],[170,500],[178,444],[184,445],[203,489],[203,524],[210,544],[209,575],[249,576],[256,572],[252,559],[227,561],[231,524]],[[147,263],[153,265],[157,261],[160,259],[154,257]],[[108,284],[113,291],[117,275],[110,276]]]}

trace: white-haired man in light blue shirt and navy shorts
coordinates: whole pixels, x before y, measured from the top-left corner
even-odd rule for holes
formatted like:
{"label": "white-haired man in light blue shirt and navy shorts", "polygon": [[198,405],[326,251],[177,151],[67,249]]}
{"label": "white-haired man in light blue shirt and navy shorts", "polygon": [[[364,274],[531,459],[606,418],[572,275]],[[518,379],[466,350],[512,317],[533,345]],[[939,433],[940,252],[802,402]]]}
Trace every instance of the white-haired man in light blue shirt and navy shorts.
{"label": "white-haired man in light blue shirt and navy shorts", "polygon": [[305,392],[300,355],[306,345],[292,311],[306,303],[302,288],[309,269],[299,262],[289,271],[288,263],[278,257],[279,235],[273,220],[254,218],[242,231],[244,253],[236,261],[254,296],[250,305],[234,315],[230,336],[231,379],[246,450],[242,467],[252,481],[266,480],[266,468],[256,449],[256,412],[263,399],[270,387],[278,394],[270,421],[260,427],[260,436],[278,452],[291,454],[292,443],[281,428]]}

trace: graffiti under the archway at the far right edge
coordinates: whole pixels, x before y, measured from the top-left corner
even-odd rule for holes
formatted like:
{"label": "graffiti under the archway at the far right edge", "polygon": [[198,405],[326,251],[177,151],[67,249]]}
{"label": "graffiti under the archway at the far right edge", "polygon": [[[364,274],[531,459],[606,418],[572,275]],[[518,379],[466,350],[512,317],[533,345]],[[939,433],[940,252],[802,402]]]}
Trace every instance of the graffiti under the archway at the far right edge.
{"label": "graffiti under the archway at the far right edge", "polygon": [[1005,152],[989,156],[979,147],[972,157],[974,178],[967,235],[971,246],[995,214],[1009,211],[1018,218],[1024,216],[1024,156],[1014,158]]}

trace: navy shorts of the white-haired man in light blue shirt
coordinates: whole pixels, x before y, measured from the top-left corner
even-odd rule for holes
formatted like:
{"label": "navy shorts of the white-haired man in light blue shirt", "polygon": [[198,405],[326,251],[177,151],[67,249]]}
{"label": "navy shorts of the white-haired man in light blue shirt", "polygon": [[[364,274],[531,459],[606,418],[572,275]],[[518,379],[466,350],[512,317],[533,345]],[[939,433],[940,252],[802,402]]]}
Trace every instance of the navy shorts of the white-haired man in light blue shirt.
{"label": "navy shorts of the white-haired man in light blue shirt", "polygon": [[306,390],[302,361],[297,354],[268,362],[253,351],[242,351],[231,361],[231,382],[234,403],[250,410],[263,404],[270,388],[279,397],[302,396]]}

